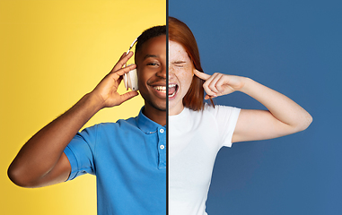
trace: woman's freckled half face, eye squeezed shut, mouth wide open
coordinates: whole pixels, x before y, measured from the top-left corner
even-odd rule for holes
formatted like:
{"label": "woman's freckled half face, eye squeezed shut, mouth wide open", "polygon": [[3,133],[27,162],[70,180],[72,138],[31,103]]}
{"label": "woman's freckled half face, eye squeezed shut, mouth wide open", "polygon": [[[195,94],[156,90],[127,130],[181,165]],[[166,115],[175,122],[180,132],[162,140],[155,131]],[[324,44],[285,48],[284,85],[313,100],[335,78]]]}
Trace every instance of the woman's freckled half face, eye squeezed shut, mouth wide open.
{"label": "woman's freckled half face, eye squeezed shut, mouth wide open", "polygon": [[169,40],[169,115],[178,115],[183,110],[183,98],[192,82],[193,70],[184,47]]}

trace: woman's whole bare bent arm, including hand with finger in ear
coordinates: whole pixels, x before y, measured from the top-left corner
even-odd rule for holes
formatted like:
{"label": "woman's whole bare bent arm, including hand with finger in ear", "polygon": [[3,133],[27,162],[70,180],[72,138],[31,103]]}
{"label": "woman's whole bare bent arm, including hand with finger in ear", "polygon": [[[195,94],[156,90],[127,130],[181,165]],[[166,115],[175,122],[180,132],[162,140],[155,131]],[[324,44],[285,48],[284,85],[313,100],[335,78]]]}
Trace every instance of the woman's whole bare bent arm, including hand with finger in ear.
{"label": "woman's whole bare bent arm, including hand with finger in ear", "polygon": [[303,131],[311,124],[312,117],[303,107],[250,78],[223,73],[208,75],[196,70],[194,73],[206,81],[205,99],[239,90],[267,107],[268,110],[241,109],[232,142],[272,139]]}

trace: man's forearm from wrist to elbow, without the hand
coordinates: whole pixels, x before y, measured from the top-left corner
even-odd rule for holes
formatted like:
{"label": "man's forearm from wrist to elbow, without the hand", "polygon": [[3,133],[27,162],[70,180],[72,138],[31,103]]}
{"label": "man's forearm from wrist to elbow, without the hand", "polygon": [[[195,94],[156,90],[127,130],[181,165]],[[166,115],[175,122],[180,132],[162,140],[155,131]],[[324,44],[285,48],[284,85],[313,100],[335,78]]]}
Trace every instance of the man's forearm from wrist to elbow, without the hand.
{"label": "man's forearm from wrist to elbow, without the hand", "polygon": [[34,184],[55,168],[66,145],[83,125],[101,109],[96,98],[85,95],[74,107],[57,117],[24,144],[8,173],[16,184]]}

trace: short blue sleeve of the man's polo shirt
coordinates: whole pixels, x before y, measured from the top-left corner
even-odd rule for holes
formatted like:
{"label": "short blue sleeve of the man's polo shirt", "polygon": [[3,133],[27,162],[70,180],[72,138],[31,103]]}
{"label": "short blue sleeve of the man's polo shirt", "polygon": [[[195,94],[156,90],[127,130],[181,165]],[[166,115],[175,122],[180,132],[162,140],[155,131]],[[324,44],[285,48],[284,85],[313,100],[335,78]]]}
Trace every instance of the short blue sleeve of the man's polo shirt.
{"label": "short blue sleeve of the man's polo shirt", "polygon": [[67,180],[72,180],[86,173],[95,174],[93,158],[97,130],[97,125],[85,128],[81,133],[77,133],[66,146],[64,153],[71,165],[71,173]]}

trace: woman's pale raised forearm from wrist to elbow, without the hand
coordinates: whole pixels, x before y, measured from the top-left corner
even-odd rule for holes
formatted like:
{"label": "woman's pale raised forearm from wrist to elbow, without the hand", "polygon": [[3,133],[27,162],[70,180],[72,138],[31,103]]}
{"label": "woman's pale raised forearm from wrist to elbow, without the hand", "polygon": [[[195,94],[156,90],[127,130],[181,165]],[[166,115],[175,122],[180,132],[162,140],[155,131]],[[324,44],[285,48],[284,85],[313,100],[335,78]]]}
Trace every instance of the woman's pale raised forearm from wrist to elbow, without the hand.
{"label": "woman's pale raised forearm from wrist to elbow, without the hand", "polygon": [[267,88],[266,86],[245,78],[241,92],[257,99],[269,112],[285,125],[294,128],[294,132],[302,131],[311,124],[311,115],[292,99],[285,95]]}

